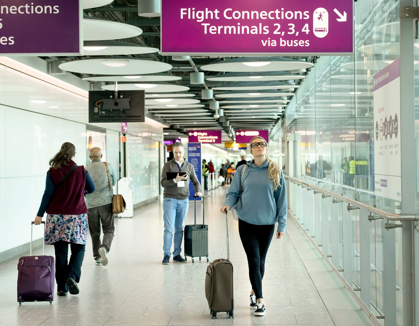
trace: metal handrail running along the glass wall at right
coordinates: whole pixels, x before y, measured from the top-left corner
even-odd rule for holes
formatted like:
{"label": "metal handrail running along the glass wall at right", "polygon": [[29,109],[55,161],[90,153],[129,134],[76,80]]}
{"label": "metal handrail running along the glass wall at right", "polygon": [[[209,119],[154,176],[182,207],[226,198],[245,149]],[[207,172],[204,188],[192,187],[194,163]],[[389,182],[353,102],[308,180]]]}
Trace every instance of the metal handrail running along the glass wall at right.
{"label": "metal handrail running along the glass wall at right", "polygon": [[317,191],[321,191],[323,194],[330,195],[331,197],[334,197],[335,199],[339,199],[343,202],[347,202],[350,205],[362,208],[363,210],[366,210],[366,211],[368,211],[368,212],[370,212],[370,213],[372,213],[376,216],[383,217],[383,218],[385,218],[389,221],[419,221],[419,214],[391,214],[391,213],[385,212],[383,210],[380,210],[376,207],[372,207],[370,205],[366,205],[366,204],[363,204],[361,202],[357,202],[356,200],[353,200],[353,199],[335,194],[335,193],[330,192],[326,189],[319,188],[319,187],[317,187],[313,184],[308,184],[304,181],[292,178],[290,176],[285,176],[285,179],[294,181],[298,184],[302,184],[303,186],[305,186],[304,188],[308,187],[310,189],[315,189]]}

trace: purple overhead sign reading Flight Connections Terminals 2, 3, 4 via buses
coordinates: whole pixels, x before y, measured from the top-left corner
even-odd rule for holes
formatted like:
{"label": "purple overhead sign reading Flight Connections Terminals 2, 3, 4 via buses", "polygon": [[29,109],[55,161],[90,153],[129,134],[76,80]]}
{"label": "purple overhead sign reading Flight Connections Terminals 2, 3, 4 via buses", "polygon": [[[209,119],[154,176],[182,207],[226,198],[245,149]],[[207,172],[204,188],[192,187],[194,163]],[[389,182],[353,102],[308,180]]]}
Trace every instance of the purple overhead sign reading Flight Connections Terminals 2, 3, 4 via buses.
{"label": "purple overhead sign reading Flight Connections Terminals 2, 3, 4 via buses", "polygon": [[352,0],[162,0],[163,55],[353,53]]}

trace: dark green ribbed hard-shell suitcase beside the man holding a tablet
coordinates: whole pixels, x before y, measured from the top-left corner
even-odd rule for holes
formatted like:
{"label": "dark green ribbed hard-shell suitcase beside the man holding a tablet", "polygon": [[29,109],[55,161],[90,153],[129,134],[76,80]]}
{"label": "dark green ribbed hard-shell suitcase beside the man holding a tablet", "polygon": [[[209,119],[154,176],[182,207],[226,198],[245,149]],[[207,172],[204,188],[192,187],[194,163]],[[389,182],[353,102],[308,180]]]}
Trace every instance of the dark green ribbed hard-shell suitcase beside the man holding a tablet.
{"label": "dark green ribbed hard-shell suitcase beside the man holding a tablet", "polygon": [[185,225],[184,241],[185,241],[185,259],[186,257],[192,257],[192,263],[195,261],[194,257],[207,257],[208,259],[208,225],[205,225],[205,207],[204,200],[206,197],[211,196],[199,196],[202,197],[202,224],[197,225],[197,197],[194,196],[194,210],[195,210],[195,224]]}

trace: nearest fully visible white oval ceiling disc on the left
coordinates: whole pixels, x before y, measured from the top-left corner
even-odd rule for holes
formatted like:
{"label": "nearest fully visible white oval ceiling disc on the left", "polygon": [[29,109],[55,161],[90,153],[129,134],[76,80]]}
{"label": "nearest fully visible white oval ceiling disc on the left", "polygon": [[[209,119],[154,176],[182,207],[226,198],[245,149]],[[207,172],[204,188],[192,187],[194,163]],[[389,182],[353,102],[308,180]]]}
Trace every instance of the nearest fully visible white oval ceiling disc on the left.
{"label": "nearest fully visible white oval ceiling disc on the left", "polygon": [[[104,65],[102,63],[104,60],[123,60],[123,62],[129,62],[129,64],[122,67],[112,67],[109,65]],[[81,74],[91,75],[142,75],[155,72],[163,72],[172,69],[172,66],[168,63],[152,60],[141,60],[137,58],[127,59],[127,57],[114,57],[112,59],[88,58],[73,60],[64,62],[58,67],[62,70],[70,72],[78,72]]]}

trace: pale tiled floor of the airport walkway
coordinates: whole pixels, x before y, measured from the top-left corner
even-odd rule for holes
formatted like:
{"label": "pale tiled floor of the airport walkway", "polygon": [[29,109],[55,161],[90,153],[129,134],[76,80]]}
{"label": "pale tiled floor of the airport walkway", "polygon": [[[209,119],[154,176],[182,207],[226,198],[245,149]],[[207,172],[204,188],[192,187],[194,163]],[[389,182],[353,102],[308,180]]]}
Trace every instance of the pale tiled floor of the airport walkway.
{"label": "pale tiled floor of the airport walkway", "polygon": [[[210,260],[227,256],[225,218],[219,212],[226,190],[215,189],[205,204]],[[197,207],[202,209],[202,204]],[[287,234],[272,240],[266,259],[264,317],[253,316],[248,308],[247,260],[237,222],[230,217],[235,318],[219,313],[212,319],[204,295],[206,260],[161,264],[162,216],[161,203],[155,202],[136,210],[132,219],[117,219],[106,267],[94,265],[88,242],[80,294],[56,297],[52,304],[19,306],[17,260],[0,266],[0,325],[370,325],[292,217],[288,218]],[[193,223],[193,216],[191,203],[186,223]],[[51,246],[47,254],[53,254]]]}

